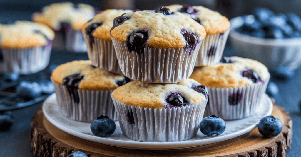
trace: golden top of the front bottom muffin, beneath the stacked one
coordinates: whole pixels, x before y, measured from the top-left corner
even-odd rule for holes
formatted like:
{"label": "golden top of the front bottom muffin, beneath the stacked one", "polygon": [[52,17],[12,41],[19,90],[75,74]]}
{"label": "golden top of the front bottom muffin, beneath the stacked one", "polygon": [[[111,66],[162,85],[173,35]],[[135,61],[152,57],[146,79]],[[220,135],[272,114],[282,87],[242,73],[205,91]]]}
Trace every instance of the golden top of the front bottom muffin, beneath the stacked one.
{"label": "golden top of the front bottom muffin, beneath the stacked one", "polygon": [[[130,105],[150,108],[171,108],[177,107],[175,104],[172,105],[172,102],[179,101],[181,98],[181,103],[185,105],[193,105],[206,101],[208,95],[205,96],[204,94],[197,92],[198,90],[195,88],[198,86],[200,86],[200,83],[193,79],[186,79],[173,84],[132,81],[115,89],[112,92],[112,95],[116,100]],[[171,95],[175,98],[171,98]],[[178,96],[180,98],[178,98]],[[181,103],[178,104],[179,107],[184,106]]]}

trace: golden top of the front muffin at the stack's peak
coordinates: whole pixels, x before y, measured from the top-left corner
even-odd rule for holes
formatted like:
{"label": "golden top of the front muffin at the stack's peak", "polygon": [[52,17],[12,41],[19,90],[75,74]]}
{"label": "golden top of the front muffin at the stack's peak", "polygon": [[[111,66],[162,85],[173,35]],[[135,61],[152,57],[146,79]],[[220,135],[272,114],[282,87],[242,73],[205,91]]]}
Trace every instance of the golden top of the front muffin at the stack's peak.
{"label": "golden top of the front muffin at the stack's peak", "polygon": [[[167,9],[167,8],[166,8]],[[206,32],[202,25],[180,12],[163,14],[154,11],[136,11],[126,13],[122,23],[114,26],[110,31],[112,38],[118,41],[129,42],[131,35],[136,33],[146,34],[144,46],[154,48],[181,48],[187,46],[188,39],[193,38],[193,43],[200,43]],[[188,35],[189,34],[189,35]]]}

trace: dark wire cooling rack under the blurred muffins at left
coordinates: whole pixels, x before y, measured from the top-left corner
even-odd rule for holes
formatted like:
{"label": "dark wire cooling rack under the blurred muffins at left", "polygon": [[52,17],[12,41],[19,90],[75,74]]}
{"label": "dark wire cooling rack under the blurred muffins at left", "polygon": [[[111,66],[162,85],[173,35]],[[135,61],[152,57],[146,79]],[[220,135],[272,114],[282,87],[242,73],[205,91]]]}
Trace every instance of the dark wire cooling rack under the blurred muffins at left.
{"label": "dark wire cooling rack under the blurred muffins at left", "polygon": [[17,110],[44,101],[50,94],[42,93],[33,100],[20,98],[16,88],[21,81],[50,80],[51,69],[73,60],[87,60],[87,53],[71,53],[65,51],[52,51],[49,65],[42,71],[30,75],[20,75],[17,80],[10,80],[4,74],[0,74],[0,112],[5,110]]}

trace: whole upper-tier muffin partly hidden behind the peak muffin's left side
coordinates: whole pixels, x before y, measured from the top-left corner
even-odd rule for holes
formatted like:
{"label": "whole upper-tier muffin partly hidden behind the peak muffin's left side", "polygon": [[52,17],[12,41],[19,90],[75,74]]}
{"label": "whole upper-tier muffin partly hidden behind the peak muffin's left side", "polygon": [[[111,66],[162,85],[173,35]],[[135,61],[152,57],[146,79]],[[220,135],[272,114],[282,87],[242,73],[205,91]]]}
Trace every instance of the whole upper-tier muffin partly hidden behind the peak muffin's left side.
{"label": "whole upper-tier muffin partly hidden behind the peak muffin's left side", "polygon": [[95,15],[83,26],[82,32],[88,45],[88,56],[94,66],[122,74],[110,37],[110,30],[113,27],[113,20],[128,12],[132,10],[108,9]]}

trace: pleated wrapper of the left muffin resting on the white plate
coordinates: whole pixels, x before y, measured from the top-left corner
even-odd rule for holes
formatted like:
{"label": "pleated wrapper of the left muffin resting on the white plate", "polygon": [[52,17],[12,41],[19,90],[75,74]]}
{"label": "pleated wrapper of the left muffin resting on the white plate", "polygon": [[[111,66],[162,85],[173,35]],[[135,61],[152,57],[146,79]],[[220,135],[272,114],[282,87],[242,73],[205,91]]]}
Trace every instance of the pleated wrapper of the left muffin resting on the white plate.
{"label": "pleated wrapper of the left muffin resting on the white plate", "polygon": [[81,121],[92,122],[98,116],[108,116],[111,119],[117,119],[117,113],[110,97],[113,90],[81,90],[77,89],[79,93],[79,103],[73,101],[70,97],[66,86],[55,83],[54,90],[57,96],[57,103],[61,108],[61,114],[65,117]]}

